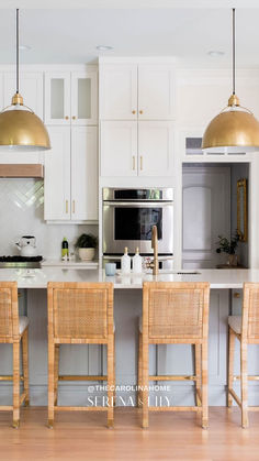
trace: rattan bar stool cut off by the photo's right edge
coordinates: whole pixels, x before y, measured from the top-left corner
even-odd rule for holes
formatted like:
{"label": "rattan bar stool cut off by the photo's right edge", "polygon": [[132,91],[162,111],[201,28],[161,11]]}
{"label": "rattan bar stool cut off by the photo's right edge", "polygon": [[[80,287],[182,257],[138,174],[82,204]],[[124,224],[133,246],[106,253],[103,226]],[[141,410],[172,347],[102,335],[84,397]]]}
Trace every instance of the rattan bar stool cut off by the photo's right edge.
{"label": "rattan bar stool cut off by the photo's right edge", "polygon": [[[243,314],[228,317],[228,407],[233,398],[241,409],[241,426],[248,427],[248,410],[259,411],[259,406],[248,406],[248,381],[259,381],[259,376],[247,374],[247,347],[259,344],[259,283],[244,284]],[[240,375],[234,375],[235,338],[240,341]],[[233,389],[235,380],[240,380],[241,397]]]}

